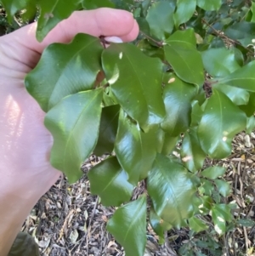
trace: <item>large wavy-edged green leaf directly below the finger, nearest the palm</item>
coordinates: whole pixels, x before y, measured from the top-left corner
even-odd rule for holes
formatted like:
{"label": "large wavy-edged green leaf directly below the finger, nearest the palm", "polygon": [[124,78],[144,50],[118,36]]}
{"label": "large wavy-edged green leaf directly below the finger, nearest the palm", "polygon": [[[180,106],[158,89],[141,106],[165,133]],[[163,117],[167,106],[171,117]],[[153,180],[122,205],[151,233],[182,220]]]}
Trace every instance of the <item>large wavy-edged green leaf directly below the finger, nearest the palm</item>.
{"label": "large wavy-edged green leaf directly below the finger, nearest the palm", "polygon": [[65,96],[94,87],[101,53],[99,38],[85,34],[78,34],[70,44],[51,44],[26,76],[26,89],[48,111]]}

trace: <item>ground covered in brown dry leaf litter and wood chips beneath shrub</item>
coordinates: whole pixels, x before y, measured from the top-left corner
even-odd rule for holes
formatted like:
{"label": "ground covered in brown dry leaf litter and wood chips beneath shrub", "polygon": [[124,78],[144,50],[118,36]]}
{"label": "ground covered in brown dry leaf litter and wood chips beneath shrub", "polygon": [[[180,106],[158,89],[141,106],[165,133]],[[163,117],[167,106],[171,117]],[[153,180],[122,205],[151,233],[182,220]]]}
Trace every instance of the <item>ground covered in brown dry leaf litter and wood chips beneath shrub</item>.
{"label": "ground covered in brown dry leaf litter and wood chips beneath shrub", "polygon": [[[184,255],[178,249],[185,245],[201,255],[213,255],[208,239],[214,244],[214,255],[255,255],[255,135],[238,134],[233,140],[233,154],[222,161],[206,160],[205,167],[221,165],[228,169],[224,179],[229,181],[232,194],[225,202],[235,202],[235,219],[245,219],[246,226],[231,224],[226,235],[218,237],[213,231],[210,216],[206,219],[210,232],[201,232],[190,237],[190,230],[170,230],[166,243],[158,244],[158,237],[147,228],[147,244],[144,256]],[[42,256],[108,256],[124,255],[123,248],[105,230],[107,220],[115,208],[105,208],[98,196],[91,195],[87,173],[100,161],[91,156],[84,163],[84,175],[74,185],[67,185],[66,179],[59,180],[47,194],[42,196],[22,230],[29,232],[39,244]],[[134,191],[133,198],[144,192],[143,184]],[[247,220],[248,219],[248,220]],[[251,220],[249,220],[251,219]],[[139,239],[139,237],[137,237]],[[203,242],[204,245],[203,246]],[[218,247],[218,248],[217,248]],[[190,255],[190,254],[185,254]],[[200,254],[198,254],[200,255]]]}

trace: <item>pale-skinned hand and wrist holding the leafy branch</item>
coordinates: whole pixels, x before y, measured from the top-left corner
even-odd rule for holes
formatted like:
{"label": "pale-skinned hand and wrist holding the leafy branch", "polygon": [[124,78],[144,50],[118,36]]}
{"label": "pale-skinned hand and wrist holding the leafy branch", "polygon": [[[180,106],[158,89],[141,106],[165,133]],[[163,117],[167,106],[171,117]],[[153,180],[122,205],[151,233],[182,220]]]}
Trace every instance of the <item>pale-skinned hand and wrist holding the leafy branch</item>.
{"label": "pale-skinned hand and wrist holding the leafy branch", "polygon": [[75,12],[42,43],[36,28],[34,23],[0,37],[1,256],[8,254],[31,208],[60,176],[48,161],[53,139],[43,125],[45,113],[26,92],[24,77],[50,43],[68,43],[80,32],[128,42],[139,32],[132,14],[115,9]]}

